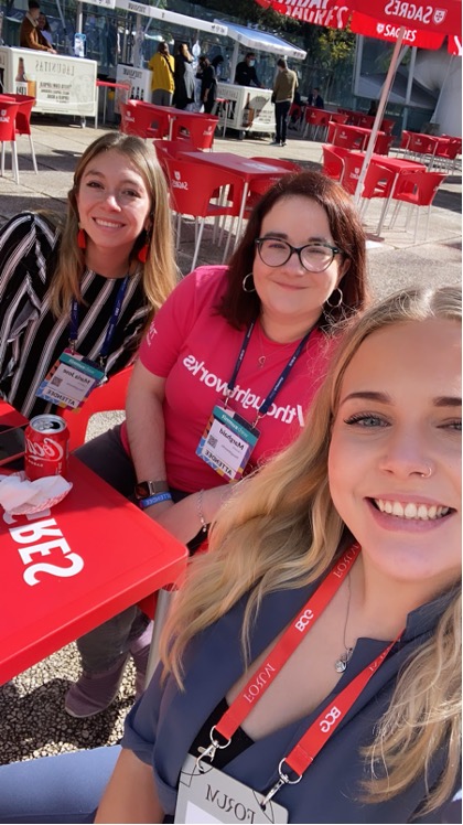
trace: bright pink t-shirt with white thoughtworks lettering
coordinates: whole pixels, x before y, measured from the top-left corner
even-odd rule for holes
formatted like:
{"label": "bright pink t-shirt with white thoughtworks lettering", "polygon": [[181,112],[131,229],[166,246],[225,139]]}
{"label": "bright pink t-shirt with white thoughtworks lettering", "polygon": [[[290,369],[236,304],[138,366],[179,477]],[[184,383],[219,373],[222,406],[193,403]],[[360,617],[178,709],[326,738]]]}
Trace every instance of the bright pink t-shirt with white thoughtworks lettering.
{"label": "bright pink t-shirt with white thoughtworks lettering", "polygon": [[[214,406],[224,403],[245,336],[245,330],[235,330],[214,311],[226,288],[225,274],[226,267],[215,266],[186,276],[157,313],[139,353],[147,369],[165,378],[168,481],[189,493],[227,483],[196,456]],[[270,341],[257,322],[228,406],[252,422],[297,346],[298,342]],[[314,330],[258,424],[260,438],[248,470],[299,436],[304,411],[325,375],[330,350],[326,336]]]}

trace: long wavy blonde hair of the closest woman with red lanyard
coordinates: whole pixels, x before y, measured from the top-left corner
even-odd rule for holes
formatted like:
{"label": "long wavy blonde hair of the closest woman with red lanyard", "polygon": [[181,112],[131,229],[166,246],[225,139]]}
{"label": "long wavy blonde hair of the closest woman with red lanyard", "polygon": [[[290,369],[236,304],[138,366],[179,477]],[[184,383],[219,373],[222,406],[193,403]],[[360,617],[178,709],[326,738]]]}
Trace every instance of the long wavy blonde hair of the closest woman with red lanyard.
{"label": "long wavy blonde hair of the closest woman with red lanyard", "polygon": [[[209,553],[192,564],[161,645],[165,672],[173,673],[180,686],[183,653],[194,635],[249,592],[241,633],[248,655],[251,622],[262,598],[314,581],[347,540],[347,527],[330,494],[327,458],[343,376],[363,341],[384,326],[433,317],[461,323],[461,290],[423,288],[391,296],[348,322],[304,431],[254,479],[243,483],[243,494],[238,485],[213,527]],[[442,804],[457,775],[460,726],[459,590],[432,638],[413,653],[399,675],[375,740],[364,751],[372,767],[363,789],[365,800],[377,803],[401,793],[426,773],[432,757],[444,747],[448,760],[424,811]]]}

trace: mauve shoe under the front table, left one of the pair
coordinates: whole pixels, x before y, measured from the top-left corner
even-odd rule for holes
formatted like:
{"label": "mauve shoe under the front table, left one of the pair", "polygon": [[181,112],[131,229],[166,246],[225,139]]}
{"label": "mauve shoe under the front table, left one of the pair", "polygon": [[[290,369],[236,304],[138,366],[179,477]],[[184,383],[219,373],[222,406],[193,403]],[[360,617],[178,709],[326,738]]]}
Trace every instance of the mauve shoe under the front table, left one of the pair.
{"label": "mauve shoe under the front table, left one of the pair", "polygon": [[83,672],[78,682],[67,692],[64,709],[76,719],[95,716],[112,705],[128,662],[128,654],[104,673]]}

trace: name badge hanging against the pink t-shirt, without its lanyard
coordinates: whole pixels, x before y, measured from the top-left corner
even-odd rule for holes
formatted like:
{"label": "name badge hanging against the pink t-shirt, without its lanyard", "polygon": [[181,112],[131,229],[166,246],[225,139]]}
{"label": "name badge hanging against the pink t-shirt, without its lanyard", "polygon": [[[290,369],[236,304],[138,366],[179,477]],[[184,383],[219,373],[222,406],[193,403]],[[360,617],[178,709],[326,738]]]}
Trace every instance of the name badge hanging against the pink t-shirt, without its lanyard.
{"label": "name badge hanging against the pink t-shirt, without its lanyard", "polygon": [[215,406],[196,456],[229,481],[243,478],[260,432],[233,409]]}

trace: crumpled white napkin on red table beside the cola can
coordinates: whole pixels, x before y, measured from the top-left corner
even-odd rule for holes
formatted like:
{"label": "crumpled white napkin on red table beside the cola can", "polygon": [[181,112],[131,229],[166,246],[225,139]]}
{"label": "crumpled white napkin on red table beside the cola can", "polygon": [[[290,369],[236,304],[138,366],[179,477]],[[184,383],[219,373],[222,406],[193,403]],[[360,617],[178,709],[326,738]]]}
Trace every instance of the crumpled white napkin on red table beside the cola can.
{"label": "crumpled white napkin on red table beside the cola can", "polygon": [[62,475],[45,475],[36,481],[28,481],[23,471],[0,475],[0,505],[10,515],[40,513],[61,502],[72,486]]}

